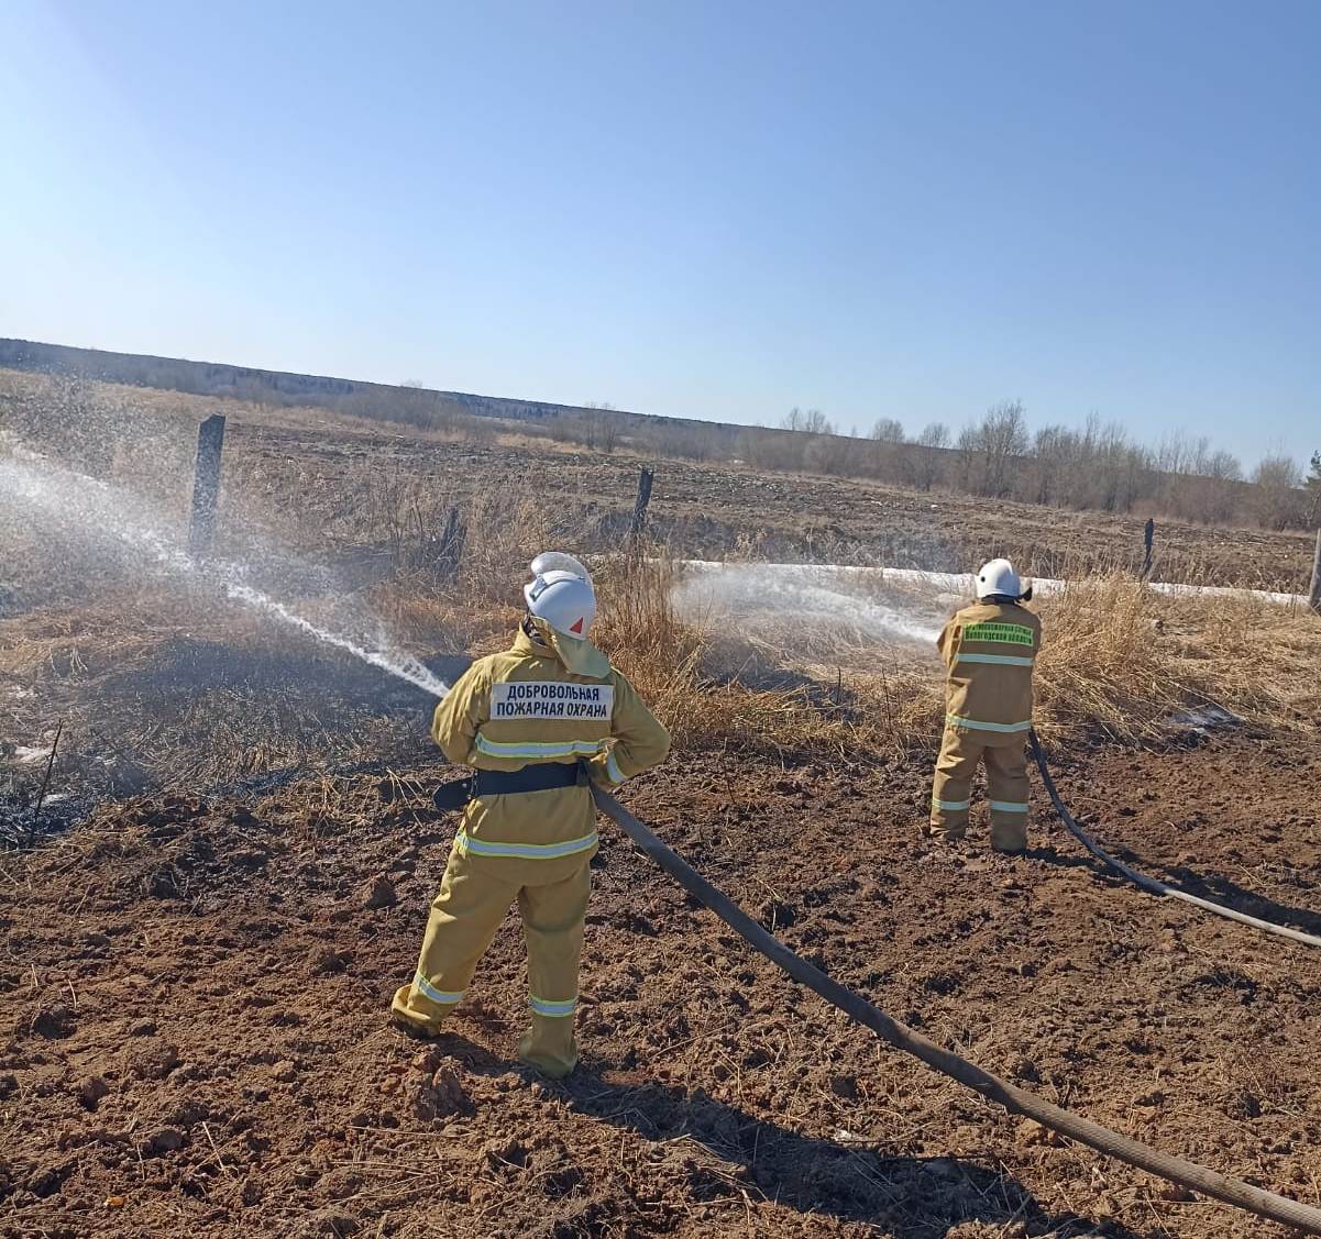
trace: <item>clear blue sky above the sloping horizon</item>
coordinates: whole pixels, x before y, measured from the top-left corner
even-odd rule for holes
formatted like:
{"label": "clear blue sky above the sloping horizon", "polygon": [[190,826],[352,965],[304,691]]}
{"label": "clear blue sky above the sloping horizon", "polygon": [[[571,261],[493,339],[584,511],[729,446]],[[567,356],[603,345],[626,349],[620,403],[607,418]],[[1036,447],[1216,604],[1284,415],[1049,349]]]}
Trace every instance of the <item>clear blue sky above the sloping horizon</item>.
{"label": "clear blue sky above the sloping horizon", "polygon": [[1318,48],[1313,0],[0,0],[0,336],[1304,460]]}

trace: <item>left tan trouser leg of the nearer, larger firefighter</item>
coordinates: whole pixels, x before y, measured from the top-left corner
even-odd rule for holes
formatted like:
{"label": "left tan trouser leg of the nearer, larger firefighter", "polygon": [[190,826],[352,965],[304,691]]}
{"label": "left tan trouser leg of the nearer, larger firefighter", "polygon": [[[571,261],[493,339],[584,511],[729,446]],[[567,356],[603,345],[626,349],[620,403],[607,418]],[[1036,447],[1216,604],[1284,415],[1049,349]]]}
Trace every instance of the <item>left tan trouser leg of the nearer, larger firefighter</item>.
{"label": "left tan trouser leg of the nearer, larger firefighter", "polygon": [[462,999],[517,894],[518,888],[493,877],[489,867],[474,869],[466,856],[450,852],[432,900],[417,971],[412,984],[395,992],[391,1010],[419,1028],[439,1028]]}

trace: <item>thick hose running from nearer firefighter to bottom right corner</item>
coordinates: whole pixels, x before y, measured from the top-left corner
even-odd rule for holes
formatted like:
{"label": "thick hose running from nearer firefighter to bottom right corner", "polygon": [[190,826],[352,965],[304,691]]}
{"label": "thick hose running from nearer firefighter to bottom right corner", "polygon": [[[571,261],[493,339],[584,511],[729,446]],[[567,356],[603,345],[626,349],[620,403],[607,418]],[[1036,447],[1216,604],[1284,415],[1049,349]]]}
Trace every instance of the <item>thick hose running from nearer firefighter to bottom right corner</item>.
{"label": "thick hose running from nearer firefighter to bottom right corner", "polygon": [[929,1067],[935,1067],[951,1079],[997,1102],[1011,1114],[1026,1115],[1044,1127],[1086,1144],[1089,1148],[1116,1157],[1131,1166],[1147,1170],[1159,1178],[1180,1184],[1203,1195],[1215,1197],[1238,1209],[1246,1209],[1262,1218],[1269,1218],[1284,1226],[1293,1226],[1313,1235],[1321,1235],[1321,1210],[1288,1197],[1263,1191],[1236,1178],[1226,1178],[1206,1166],[1170,1157],[1145,1144],[1139,1144],[1128,1136],[1112,1132],[1098,1123],[1061,1110],[1058,1106],[1026,1092],[1008,1080],[983,1071],[980,1067],[942,1049],[934,1041],[927,1041],[910,1028],[892,1020],[865,999],[831,980],[820,968],[812,967],[789,950],[778,938],[768,934],[728,896],[711,885],[691,865],[671,852],[646,826],[633,816],[618,800],[600,787],[592,789],[596,803],[602,812],[613,818],[625,835],[629,836],[653,861],[670,874],[699,903],[713,911],[740,937],[761,951],[771,963],[787,972],[795,981],[815,991],[827,1003],[838,1007],[845,1016],[869,1028],[897,1049],[919,1058]]}

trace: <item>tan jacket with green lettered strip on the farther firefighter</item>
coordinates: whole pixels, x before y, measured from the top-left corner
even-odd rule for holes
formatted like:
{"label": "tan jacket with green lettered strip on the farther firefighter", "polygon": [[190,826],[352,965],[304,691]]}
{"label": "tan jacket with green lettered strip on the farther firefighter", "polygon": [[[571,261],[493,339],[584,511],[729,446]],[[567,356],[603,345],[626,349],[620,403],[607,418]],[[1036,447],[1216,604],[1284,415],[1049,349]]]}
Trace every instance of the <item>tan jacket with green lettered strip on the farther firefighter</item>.
{"label": "tan jacket with green lettered strip on the farther firefighter", "polygon": [[1032,726],[1041,621],[1015,602],[975,602],[954,614],[937,646],[948,668],[946,725],[987,745],[1021,744]]}

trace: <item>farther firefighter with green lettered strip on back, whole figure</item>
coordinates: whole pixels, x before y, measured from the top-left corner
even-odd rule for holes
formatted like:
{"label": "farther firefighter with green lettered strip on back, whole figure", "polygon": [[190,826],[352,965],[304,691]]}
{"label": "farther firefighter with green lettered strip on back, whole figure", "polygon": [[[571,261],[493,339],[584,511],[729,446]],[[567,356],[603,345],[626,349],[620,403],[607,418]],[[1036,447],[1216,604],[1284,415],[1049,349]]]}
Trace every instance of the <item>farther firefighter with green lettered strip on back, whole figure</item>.
{"label": "farther firefighter with green lettered strip on back, whole figure", "polygon": [[958,612],[937,642],[946,682],[945,738],[935,762],[931,833],[960,840],[968,828],[972,775],[985,762],[991,847],[1028,845],[1028,757],[1032,671],[1041,621],[1021,604],[1032,597],[1007,559],[978,573],[978,601]]}

